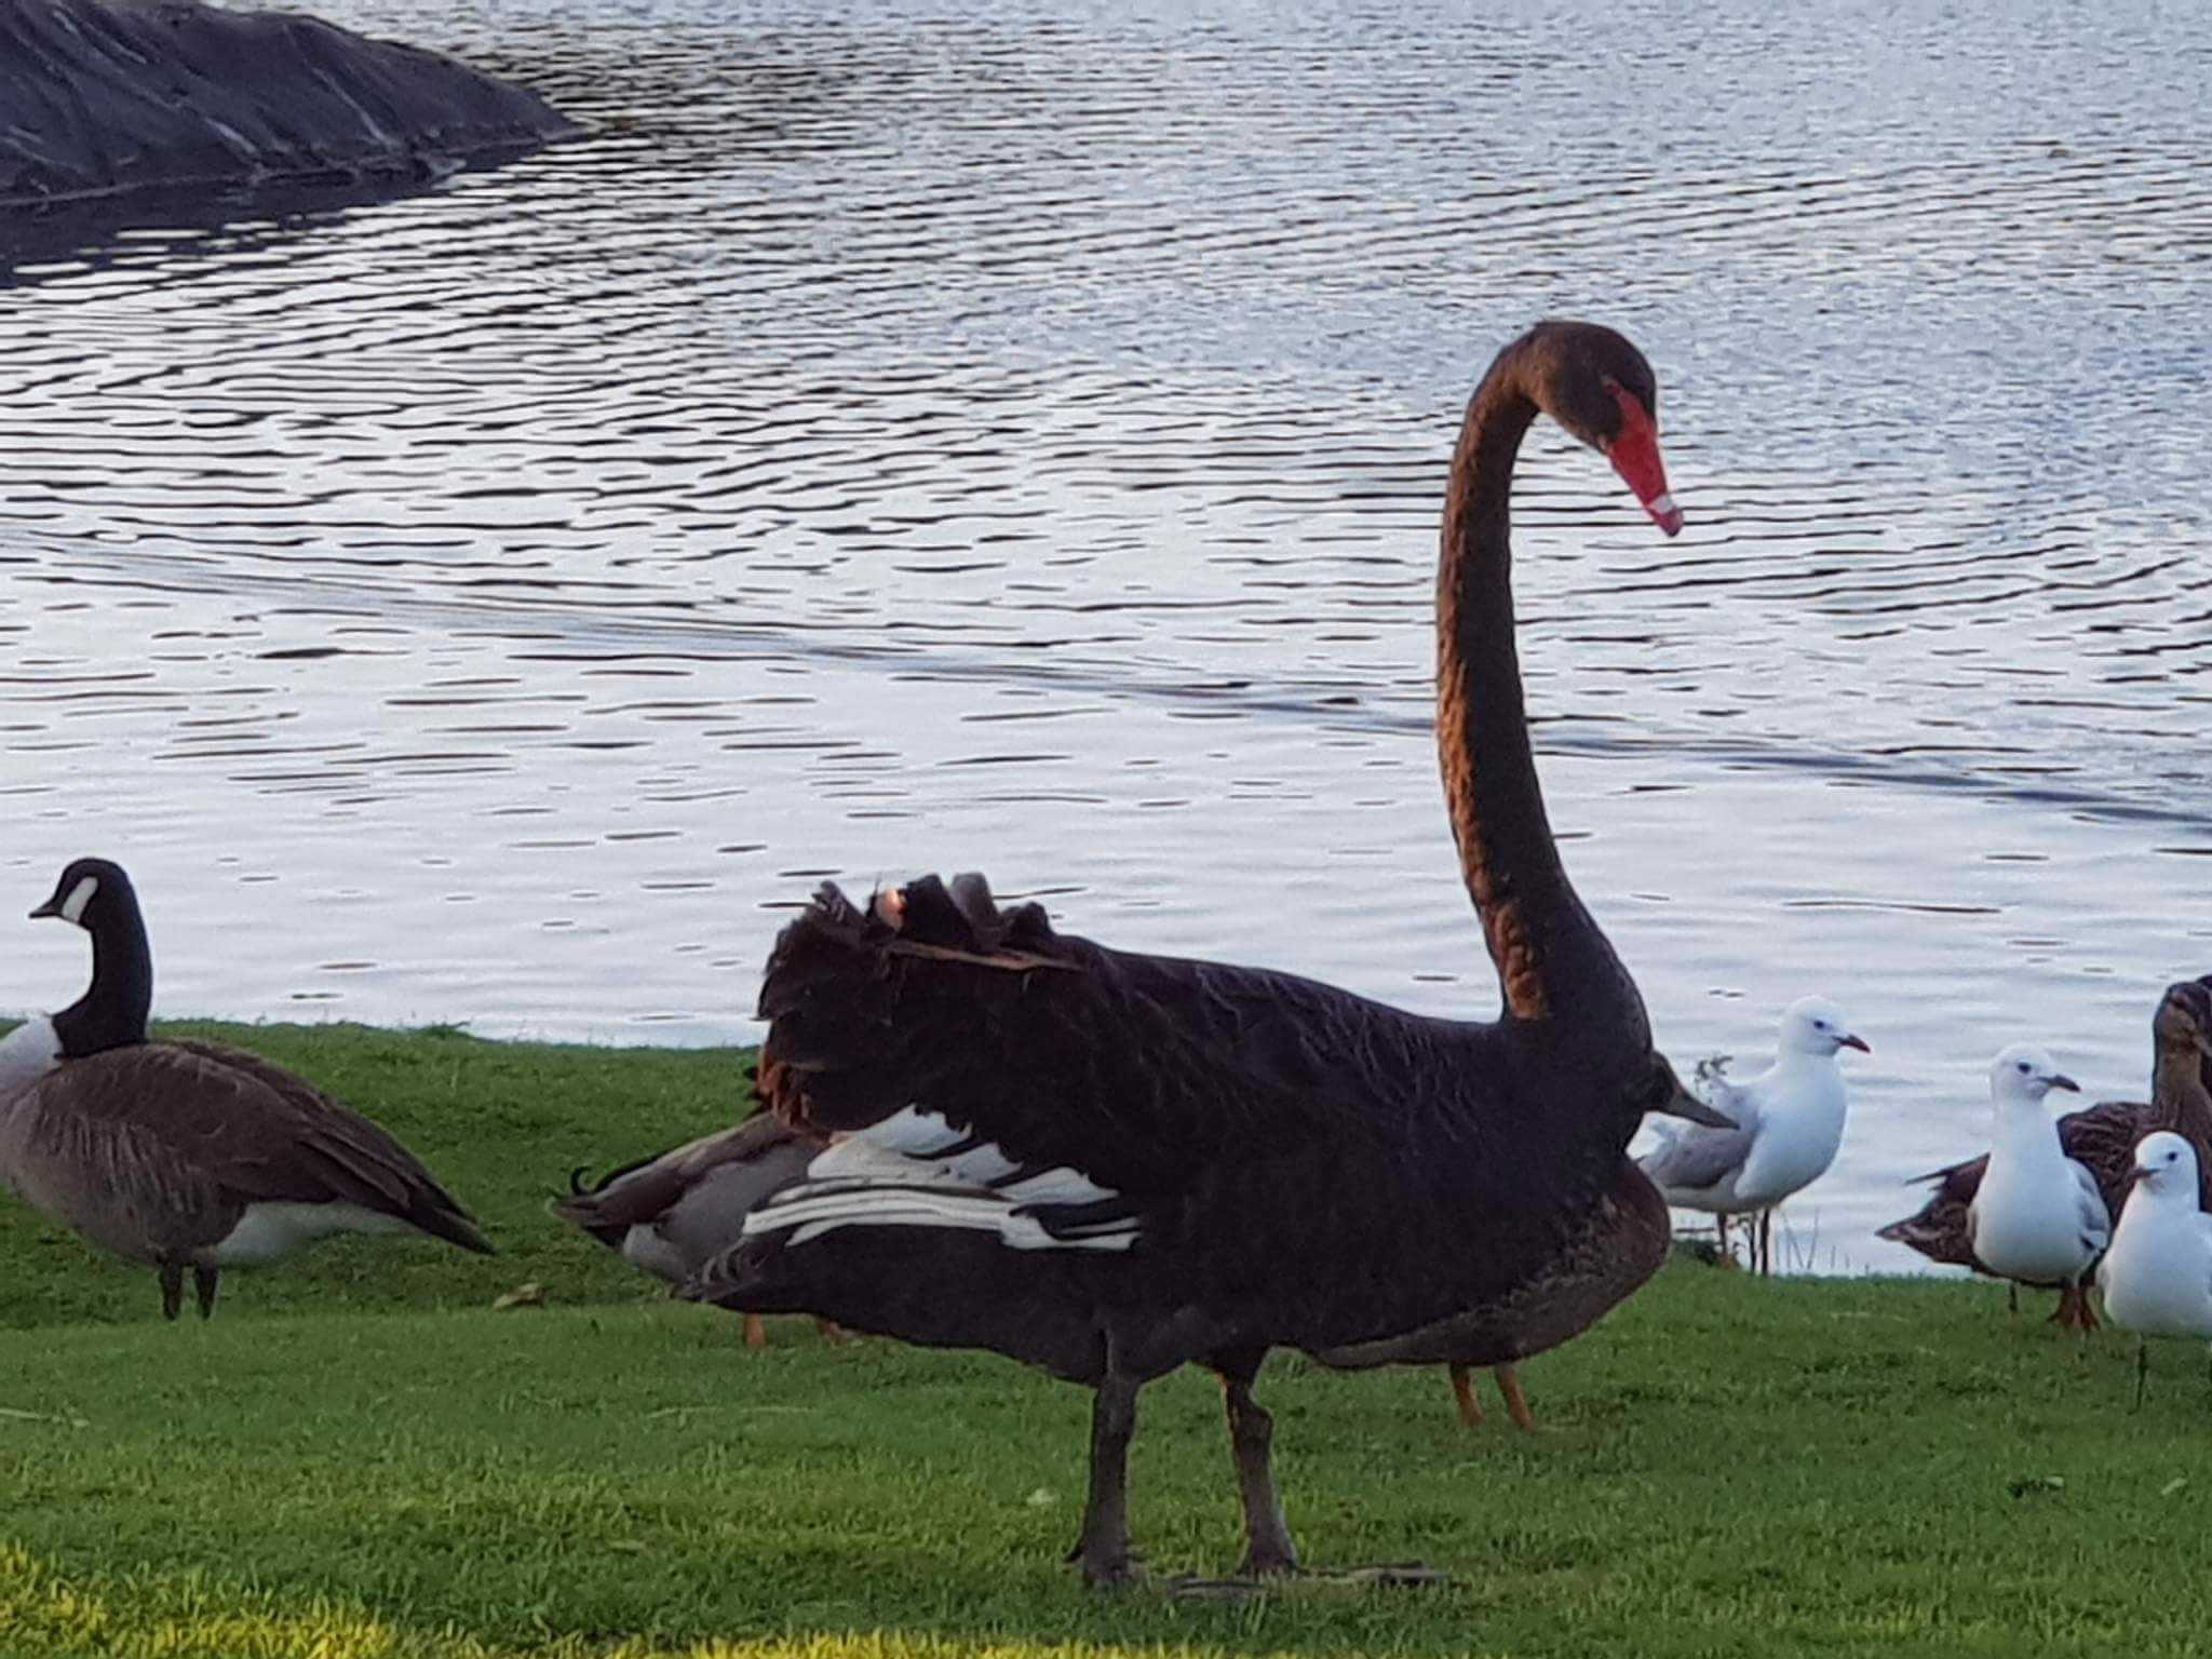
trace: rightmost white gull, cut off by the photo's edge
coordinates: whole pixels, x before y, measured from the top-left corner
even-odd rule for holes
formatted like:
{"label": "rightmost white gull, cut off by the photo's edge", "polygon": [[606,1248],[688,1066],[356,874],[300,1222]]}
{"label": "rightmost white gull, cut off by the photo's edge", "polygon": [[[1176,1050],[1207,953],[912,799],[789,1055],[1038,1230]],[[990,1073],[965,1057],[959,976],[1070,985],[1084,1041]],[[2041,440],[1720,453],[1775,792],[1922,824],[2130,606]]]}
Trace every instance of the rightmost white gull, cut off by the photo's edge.
{"label": "rightmost white gull, cut off by the photo's edge", "polygon": [[2104,1312],[2137,1334],[2135,1405],[2152,1336],[2212,1338],[2212,1214],[2197,1208],[2197,1148],[2170,1128],[2135,1148],[2135,1186],[2097,1263]]}

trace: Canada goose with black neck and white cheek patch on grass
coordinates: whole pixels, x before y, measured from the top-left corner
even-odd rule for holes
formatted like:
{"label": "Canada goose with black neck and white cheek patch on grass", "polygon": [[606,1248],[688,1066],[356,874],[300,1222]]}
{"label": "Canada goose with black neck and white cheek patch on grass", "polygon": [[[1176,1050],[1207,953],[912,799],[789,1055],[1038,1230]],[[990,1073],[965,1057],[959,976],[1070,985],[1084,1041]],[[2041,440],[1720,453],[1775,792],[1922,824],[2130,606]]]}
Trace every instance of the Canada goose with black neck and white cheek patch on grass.
{"label": "Canada goose with black neck and white cheek patch on grass", "polygon": [[93,936],[91,989],[51,1026],[60,1060],[0,1099],[0,1181],[40,1214],[159,1270],[201,1318],[223,1267],[334,1232],[427,1232],[491,1245],[414,1155],[303,1077],[212,1042],[148,1042],[153,951],[119,865],[77,858],[31,911]]}

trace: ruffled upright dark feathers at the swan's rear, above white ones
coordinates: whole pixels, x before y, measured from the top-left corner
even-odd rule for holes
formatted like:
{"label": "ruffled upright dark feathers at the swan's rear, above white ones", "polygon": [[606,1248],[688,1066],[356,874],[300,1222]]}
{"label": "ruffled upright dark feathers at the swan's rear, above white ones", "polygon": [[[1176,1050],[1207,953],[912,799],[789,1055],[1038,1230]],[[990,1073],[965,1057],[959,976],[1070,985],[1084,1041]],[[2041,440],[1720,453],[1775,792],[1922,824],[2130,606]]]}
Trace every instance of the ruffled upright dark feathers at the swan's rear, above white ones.
{"label": "ruffled upright dark feathers at the swan's rear, above white ones", "polygon": [[909,1099],[958,1099],[989,1064],[984,1004],[1079,973],[1040,905],[1002,911],[982,876],[925,876],[867,907],[834,885],[776,936],[757,1091],[787,1124],[860,1128]]}

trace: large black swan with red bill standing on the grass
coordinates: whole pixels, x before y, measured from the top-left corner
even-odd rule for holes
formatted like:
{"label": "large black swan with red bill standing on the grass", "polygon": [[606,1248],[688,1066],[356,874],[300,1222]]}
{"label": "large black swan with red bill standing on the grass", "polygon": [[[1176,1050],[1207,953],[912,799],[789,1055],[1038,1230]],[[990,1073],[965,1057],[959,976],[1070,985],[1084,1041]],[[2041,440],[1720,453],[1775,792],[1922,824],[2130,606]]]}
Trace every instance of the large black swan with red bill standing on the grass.
{"label": "large black swan with red bill standing on the grass", "polygon": [[[1650,365],[1540,323],[1475,389],[1438,571],[1438,743],[1495,1024],[1248,967],[1135,956],[1000,911],[980,876],[776,938],[759,1091],[849,1133],[761,1203],[688,1294],[987,1347],[1097,1391],[1075,1559],[1137,1575],[1137,1391],[1221,1376],[1248,1551],[1298,1566],[1252,1398],[1270,1347],[1420,1332],[1542,1281],[1621,1179],[1646,1110],[1690,1104],[1553,845],[1513,644],[1513,460],[1537,414],[1601,451],[1672,535]],[[1703,1113],[1712,1117],[1710,1113]]]}

